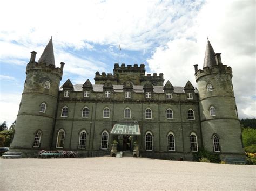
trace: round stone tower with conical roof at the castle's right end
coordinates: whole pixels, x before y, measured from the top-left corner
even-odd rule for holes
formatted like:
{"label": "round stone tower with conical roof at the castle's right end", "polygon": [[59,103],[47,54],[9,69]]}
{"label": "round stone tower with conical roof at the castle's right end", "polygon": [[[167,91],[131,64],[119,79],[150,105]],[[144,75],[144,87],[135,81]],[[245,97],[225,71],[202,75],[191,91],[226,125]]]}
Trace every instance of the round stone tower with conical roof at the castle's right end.
{"label": "round stone tower with conical roof at the castle's right end", "polygon": [[232,85],[232,69],[207,41],[203,70],[195,67],[203,146],[210,152],[244,154]]}

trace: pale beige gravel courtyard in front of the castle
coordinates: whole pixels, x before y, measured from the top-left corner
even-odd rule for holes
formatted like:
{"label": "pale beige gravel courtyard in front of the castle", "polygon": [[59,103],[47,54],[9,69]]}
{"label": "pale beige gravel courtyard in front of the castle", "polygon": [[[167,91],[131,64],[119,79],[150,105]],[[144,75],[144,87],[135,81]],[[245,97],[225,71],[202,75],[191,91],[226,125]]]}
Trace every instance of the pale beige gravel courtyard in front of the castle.
{"label": "pale beige gravel courtyard in front of the castle", "polygon": [[0,190],[255,190],[256,166],[147,158],[0,159]]}

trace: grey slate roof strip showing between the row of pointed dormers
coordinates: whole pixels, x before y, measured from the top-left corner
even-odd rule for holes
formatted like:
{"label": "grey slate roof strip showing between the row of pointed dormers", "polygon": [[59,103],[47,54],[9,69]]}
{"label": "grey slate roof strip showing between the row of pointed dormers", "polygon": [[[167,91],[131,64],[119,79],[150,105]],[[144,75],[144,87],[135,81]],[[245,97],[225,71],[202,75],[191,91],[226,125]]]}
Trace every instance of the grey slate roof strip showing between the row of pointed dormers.
{"label": "grey slate roof strip showing between the row of pointed dormers", "polygon": [[[93,91],[95,92],[103,92],[103,85],[102,84],[94,84],[92,85]],[[164,93],[164,86],[153,86],[154,93]],[[183,90],[184,87],[174,86],[174,93],[184,94],[185,91]],[[60,88],[62,91],[62,87]],[[74,85],[74,91],[83,91],[83,84],[76,84]],[[113,85],[114,92],[123,92],[123,85]],[[133,86],[133,91],[136,93],[143,93],[143,86]],[[195,93],[198,93],[197,88],[194,90]]]}

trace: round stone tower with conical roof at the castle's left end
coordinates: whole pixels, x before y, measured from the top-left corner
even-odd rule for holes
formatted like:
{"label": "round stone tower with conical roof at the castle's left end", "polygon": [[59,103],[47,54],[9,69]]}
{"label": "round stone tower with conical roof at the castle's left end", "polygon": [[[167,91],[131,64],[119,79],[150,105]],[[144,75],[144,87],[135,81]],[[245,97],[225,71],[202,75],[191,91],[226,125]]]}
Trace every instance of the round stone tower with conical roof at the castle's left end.
{"label": "round stone tower with conical roof at the castle's left end", "polygon": [[64,67],[64,63],[61,68],[55,67],[52,39],[38,62],[35,62],[36,54],[31,52],[26,66],[26,80],[10,147],[23,154],[26,150],[31,153],[31,150],[50,149]]}

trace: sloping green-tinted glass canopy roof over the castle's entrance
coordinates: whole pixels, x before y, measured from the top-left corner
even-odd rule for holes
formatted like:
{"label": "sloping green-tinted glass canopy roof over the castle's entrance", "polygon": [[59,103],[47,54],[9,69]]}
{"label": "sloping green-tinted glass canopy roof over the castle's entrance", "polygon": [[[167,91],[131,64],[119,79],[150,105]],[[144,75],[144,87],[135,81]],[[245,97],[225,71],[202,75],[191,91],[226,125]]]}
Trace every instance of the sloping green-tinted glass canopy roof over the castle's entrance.
{"label": "sloping green-tinted glass canopy roof over the castle's entrance", "polygon": [[118,122],[114,124],[110,134],[113,135],[140,135],[139,124],[136,122]]}

